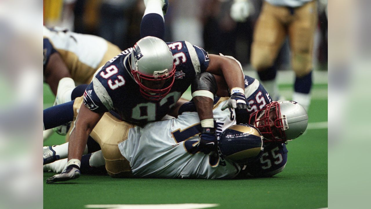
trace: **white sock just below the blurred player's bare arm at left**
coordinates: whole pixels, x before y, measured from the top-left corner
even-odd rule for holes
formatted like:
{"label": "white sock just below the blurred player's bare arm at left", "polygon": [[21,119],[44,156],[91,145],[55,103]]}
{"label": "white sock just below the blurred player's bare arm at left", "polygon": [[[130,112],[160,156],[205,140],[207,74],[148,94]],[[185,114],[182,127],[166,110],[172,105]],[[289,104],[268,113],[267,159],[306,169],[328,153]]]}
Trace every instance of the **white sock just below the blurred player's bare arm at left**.
{"label": "white sock just below the blurred player's bare arm at left", "polygon": [[75,81],[73,81],[72,78],[65,77],[60,79],[58,83],[55,105],[70,102],[73,89],[75,89]]}

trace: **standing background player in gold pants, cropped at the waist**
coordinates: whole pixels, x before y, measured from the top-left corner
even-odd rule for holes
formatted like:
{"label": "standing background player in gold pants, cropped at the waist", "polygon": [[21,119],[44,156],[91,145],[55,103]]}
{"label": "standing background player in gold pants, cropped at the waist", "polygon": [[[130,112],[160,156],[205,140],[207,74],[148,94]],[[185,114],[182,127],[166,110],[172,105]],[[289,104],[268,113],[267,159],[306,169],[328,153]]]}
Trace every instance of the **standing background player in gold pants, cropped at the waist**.
{"label": "standing background player in gold pants, cropped at the waist", "polygon": [[[246,19],[247,0],[234,0],[236,21]],[[286,36],[289,38],[291,66],[295,72],[292,99],[308,110],[312,87],[312,49],[317,26],[315,0],[265,0],[254,29],[251,64],[273,100],[278,100],[276,67],[273,66]]]}

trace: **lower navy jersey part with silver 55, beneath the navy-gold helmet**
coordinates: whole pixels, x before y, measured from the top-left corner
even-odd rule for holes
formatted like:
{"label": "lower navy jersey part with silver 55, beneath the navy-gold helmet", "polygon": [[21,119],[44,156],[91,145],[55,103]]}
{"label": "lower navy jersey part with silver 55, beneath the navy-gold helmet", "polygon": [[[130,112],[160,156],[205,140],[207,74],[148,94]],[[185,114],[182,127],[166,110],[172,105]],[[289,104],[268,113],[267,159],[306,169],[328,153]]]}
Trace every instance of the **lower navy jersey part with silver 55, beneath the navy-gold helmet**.
{"label": "lower navy jersey part with silver 55, beneath the navy-gold helmet", "polygon": [[287,148],[285,144],[271,143],[264,147],[262,157],[254,163],[247,164],[240,175],[247,173],[255,177],[271,177],[280,173],[287,163]]}

